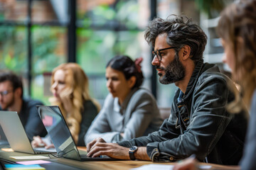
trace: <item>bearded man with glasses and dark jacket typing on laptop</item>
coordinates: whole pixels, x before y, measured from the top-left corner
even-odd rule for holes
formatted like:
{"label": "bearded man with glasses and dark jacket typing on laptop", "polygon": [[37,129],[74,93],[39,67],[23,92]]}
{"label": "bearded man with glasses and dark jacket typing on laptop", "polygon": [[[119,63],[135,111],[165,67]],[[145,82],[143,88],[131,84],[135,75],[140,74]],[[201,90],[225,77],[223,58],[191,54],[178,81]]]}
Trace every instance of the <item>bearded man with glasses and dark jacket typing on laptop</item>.
{"label": "bearded man with glasses and dark jacket typing on laptop", "polygon": [[105,143],[101,138],[87,145],[89,157],[171,161],[195,155],[201,162],[238,164],[247,129],[245,110],[228,112],[233,83],[215,64],[203,62],[207,37],[191,19],[155,18],[145,39],[154,51],[151,64],[161,84],[178,86],[169,119],[145,137]]}

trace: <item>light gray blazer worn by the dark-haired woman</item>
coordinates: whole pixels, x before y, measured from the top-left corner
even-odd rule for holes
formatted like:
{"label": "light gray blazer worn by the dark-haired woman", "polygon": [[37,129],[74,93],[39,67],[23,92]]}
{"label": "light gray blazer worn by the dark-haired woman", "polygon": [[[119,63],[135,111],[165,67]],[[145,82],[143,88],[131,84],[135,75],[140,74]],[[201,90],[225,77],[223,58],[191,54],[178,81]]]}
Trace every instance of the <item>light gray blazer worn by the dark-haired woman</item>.
{"label": "light gray blazer worn by the dark-haired woman", "polygon": [[106,142],[119,142],[148,135],[159,130],[162,121],[156,100],[148,90],[133,89],[122,106],[118,98],[109,94],[85,135],[85,145],[97,137]]}

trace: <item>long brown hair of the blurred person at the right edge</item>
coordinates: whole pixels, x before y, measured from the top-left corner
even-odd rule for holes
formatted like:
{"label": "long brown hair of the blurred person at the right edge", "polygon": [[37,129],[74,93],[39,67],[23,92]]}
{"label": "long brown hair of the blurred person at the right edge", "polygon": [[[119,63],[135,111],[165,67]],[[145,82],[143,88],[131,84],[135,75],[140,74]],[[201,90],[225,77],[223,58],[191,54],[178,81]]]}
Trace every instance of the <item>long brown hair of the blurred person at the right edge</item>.
{"label": "long brown hair of the blurred person at the right edge", "polygon": [[240,1],[225,8],[217,33],[233,46],[233,77],[242,86],[242,96],[249,108],[256,88],[256,1]]}

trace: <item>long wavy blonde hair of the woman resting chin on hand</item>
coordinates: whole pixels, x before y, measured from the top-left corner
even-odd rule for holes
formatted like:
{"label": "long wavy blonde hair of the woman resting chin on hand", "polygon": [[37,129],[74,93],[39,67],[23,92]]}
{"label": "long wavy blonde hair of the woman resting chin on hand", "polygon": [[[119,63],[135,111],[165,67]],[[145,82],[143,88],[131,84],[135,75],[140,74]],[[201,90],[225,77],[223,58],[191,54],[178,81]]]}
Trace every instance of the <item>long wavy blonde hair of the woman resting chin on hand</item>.
{"label": "long wavy blonde hair of the woman resting chin on hand", "polygon": [[65,89],[60,92],[60,98],[70,98],[72,104],[72,113],[67,113],[64,109],[63,103],[58,101],[55,96],[49,99],[53,105],[58,105],[63,113],[65,120],[68,123],[71,134],[78,135],[80,132],[80,123],[82,121],[81,111],[83,111],[83,102],[91,100],[95,103],[98,111],[100,105],[89,94],[89,80],[85,72],[81,69],[78,64],[75,63],[64,63],[53,69],[51,77],[51,85],[54,83],[54,74],[58,70],[63,70],[65,73]]}

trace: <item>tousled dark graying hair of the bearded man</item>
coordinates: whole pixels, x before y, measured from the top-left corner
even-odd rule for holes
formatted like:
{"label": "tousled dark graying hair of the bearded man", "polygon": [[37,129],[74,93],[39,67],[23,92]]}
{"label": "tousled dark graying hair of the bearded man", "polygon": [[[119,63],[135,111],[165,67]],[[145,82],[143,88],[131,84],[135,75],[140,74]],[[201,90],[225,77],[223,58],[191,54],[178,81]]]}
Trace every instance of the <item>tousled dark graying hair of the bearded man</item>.
{"label": "tousled dark graying hair of the bearded man", "polygon": [[203,51],[207,43],[207,36],[192,19],[186,16],[171,15],[166,20],[154,18],[145,31],[145,39],[155,46],[156,37],[166,33],[166,42],[175,47],[176,53],[184,45],[191,47],[191,60],[198,62],[203,58]]}

